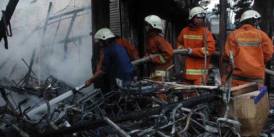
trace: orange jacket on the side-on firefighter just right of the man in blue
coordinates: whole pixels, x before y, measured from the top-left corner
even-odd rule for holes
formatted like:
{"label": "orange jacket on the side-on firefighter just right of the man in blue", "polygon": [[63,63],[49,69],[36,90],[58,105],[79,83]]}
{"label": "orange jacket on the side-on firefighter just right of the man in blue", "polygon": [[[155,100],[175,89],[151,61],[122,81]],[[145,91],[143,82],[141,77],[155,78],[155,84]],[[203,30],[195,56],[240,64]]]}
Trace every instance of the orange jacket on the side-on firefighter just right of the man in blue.
{"label": "orange jacket on the side-on firefighter just right of the man in blue", "polygon": [[[150,79],[161,81],[162,76],[166,76],[166,69],[172,65],[173,48],[156,31],[152,31],[147,36],[146,56],[160,53],[159,56],[152,58]],[[170,71],[167,75],[170,74]]]}

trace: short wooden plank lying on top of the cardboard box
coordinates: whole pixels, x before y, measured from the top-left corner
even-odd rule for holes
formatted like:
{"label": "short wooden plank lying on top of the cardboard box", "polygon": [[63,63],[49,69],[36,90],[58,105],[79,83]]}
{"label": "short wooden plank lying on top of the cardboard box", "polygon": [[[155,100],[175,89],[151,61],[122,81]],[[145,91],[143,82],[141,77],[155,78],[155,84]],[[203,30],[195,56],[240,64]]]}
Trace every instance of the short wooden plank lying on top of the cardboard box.
{"label": "short wooden plank lying on top of the cardboard box", "polygon": [[253,83],[249,83],[249,84],[245,84],[237,87],[232,87],[230,96],[242,95],[242,94],[257,91],[257,90],[258,90],[258,84],[253,82]]}

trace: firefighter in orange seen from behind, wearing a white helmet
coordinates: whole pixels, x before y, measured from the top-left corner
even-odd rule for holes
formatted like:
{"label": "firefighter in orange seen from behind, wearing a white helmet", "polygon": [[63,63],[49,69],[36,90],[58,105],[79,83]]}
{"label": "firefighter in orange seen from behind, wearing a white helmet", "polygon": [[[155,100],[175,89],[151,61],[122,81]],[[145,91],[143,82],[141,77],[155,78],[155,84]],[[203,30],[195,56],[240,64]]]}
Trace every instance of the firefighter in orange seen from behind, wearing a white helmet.
{"label": "firefighter in orange seen from behind, wearing a white helmet", "polygon": [[[266,33],[258,29],[260,18],[261,15],[254,10],[244,12],[239,27],[226,40],[221,59],[229,63],[228,51],[232,50],[234,72],[231,87],[251,82],[263,86],[265,63],[273,53],[273,46]],[[230,66],[227,67],[227,72],[229,70]],[[222,78],[222,84],[225,79],[226,75]]]}

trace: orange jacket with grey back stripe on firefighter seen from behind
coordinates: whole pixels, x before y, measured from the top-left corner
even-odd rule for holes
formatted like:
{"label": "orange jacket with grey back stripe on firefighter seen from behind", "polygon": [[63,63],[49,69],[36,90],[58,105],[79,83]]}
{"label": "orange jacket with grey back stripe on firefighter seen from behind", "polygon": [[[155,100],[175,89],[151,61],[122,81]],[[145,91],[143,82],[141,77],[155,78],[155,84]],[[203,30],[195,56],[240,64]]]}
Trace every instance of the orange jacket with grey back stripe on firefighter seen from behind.
{"label": "orange jacket with grey back stripe on firefighter seen from behind", "polygon": [[[266,33],[252,25],[244,24],[228,36],[225,52],[222,54],[224,62],[229,62],[229,50],[233,52],[233,76],[264,79],[264,63],[273,53],[272,42]],[[230,66],[227,67],[227,72],[229,70]]]}

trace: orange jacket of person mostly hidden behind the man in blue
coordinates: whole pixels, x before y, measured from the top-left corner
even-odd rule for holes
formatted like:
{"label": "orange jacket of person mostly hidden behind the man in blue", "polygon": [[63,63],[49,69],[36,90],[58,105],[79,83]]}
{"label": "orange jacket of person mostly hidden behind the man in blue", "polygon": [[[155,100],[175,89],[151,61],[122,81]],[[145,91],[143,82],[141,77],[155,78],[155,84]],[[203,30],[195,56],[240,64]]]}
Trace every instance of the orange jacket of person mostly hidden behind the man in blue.
{"label": "orange jacket of person mostly hidden behind the man in blue", "polygon": [[[115,42],[118,45],[121,45],[125,48],[125,50],[126,50],[126,52],[127,52],[127,54],[128,54],[131,61],[136,60],[136,59],[140,59],[138,50],[135,49],[135,47],[132,44],[130,44],[127,40],[117,39],[117,40],[115,40]],[[100,67],[102,66],[102,54],[104,53],[104,49],[105,48],[101,49],[101,51],[100,51],[100,59],[99,59],[99,62],[97,64],[97,68],[96,68],[95,73],[97,73],[97,71],[100,70]]]}

